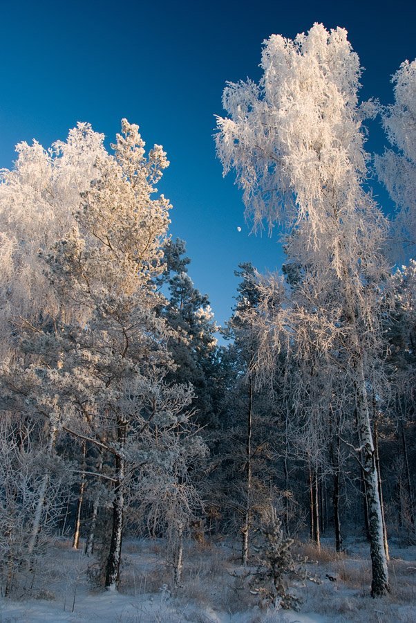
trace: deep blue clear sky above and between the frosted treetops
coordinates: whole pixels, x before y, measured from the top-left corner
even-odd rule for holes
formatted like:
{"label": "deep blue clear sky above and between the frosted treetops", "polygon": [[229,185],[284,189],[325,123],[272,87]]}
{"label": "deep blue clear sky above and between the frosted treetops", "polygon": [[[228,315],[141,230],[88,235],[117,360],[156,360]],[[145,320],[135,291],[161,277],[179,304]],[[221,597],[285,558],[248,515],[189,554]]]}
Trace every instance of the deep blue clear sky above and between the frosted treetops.
{"label": "deep blue clear sky above and between the frosted treetops", "polygon": [[[104,132],[107,146],[121,118],[138,123],[148,148],[167,151],[171,165],[159,190],[173,204],[171,234],[187,241],[189,274],[224,323],[238,263],[275,269],[282,255],[278,235],[249,235],[240,191],[215,158],[214,114],[223,114],[227,80],[260,78],[264,39],[293,38],[315,21],[348,30],[366,68],[361,96],[390,102],[390,76],[416,57],[410,0],[388,9],[366,0],[3,0],[0,168],[12,166],[16,143],[36,138],[49,147],[77,121]],[[382,151],[377,123],[371,133],[370,147]]]}

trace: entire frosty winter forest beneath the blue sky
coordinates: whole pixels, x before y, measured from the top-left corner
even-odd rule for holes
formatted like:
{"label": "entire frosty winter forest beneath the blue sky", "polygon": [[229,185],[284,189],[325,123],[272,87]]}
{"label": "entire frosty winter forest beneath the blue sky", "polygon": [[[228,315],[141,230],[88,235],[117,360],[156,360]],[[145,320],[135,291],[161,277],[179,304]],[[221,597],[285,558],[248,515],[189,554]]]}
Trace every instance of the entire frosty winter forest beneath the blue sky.
{"label": "entire frosty winter forest beneath the blue sky", "polygon": [[[241,258],[223,327],[169,234],[169,154],[133,120],[111,149],[78,123],[0,170],[4,604],[61,583],[74,613],[83,581],[163,597],[111,619],[130,623],[306,621],[325,600],[308,621],[416,620],[416,60],[393,105],[362,101],[346,30],[314,24],[267,39],[261,72],[227,83],[214,141],[285,262]],[[204,611],[196,556],[224,593]]]}

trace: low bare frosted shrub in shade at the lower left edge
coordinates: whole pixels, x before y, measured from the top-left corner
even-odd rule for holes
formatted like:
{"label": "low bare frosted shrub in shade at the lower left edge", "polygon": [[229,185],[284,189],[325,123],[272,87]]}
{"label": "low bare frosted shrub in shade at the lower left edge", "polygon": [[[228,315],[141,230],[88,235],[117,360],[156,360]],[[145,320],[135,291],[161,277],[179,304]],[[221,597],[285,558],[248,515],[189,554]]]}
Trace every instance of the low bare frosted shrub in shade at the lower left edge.
{"label": "low bare frosted shrub in shade at the lower left edge", "polygon": [[39,423],[24,415],[1,415],[0,453],[0,576],[8,595],[48,548],[70,480],[68,464],[44,445]]}

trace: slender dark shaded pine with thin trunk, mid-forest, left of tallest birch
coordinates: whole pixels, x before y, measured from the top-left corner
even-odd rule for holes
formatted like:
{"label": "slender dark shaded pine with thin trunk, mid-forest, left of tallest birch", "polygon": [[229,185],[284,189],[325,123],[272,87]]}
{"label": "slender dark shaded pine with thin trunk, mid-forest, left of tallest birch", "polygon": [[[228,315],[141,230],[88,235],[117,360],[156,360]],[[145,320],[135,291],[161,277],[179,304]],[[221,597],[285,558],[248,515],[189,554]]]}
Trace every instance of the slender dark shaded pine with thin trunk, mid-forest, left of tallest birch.
{"label": "slender dark shaded pine with thin trunk, mid-forest, left of tallest birch", "polygon": [[237,304],[223,334],[231,340],[225,357],[231,362],[229,384],[224,397],[227,417],[223,421],[221,442],[222,470],[225,477],[225,505],[236,514],[241,535],[241,559],[249,558],[249,541],[254,519],[273,503],[270,482],[270,431],[272,401],[256,389],[258,341],[252,318],[257,313],[261,294],[258,277],[251,263],[238,265]]}

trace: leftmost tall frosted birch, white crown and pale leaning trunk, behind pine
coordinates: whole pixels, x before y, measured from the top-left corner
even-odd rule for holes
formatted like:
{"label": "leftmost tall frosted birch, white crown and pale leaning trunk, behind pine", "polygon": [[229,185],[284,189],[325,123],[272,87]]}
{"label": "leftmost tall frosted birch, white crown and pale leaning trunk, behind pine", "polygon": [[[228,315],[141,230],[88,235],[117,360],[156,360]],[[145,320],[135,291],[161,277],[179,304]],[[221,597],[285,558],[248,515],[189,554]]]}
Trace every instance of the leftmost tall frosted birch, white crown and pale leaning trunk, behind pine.
{"label": "leftmost tall frosted birch, white crown and pale leaning trunk, behind pine", "polygon": [[[104,159],[106,155],[103,141],[104,135],[93,132],[91,125],[78,123],[70,130],[65,142],[57,141],[48,150],[37,141],[32,145],[19,143],[15,167],[0,171],[0,352],[3,362],[22,356],[22,352],[16,349],[17,341],[13,336],[25,323],[27,327],[34,323],[45,332],[53,330],[49,314],[56,313],[62,303],[50,287],[39,249],[46,249],[70,231],[79,193],[87,190],[96,177],[97,158]],[[32,359],[32,353],[26,354],[27,365]],[[22,411],[26,413],[24,404]],[[7,414],[3,417],[8,421]],[[44,473],[37,470],[36,478],[40,481],[33,493],[37,502],[31,525],[26,525],[30,533],[27,543],[30,556],[39,541],[46,507],[51,514],[53,500],[59,504],[52,491],[48,491],[53,485],[51,469],[57,460],[57,428],[52,423],[50,426],[44,424],[32,421],[29,425],[32,440],[37,439],[39,444],[35,449],[32,442],[32,450],[47,455],[43,462]],[[13,427],[10,434],[12,430]],[[23,464],[21,469],[24,469]]]}

